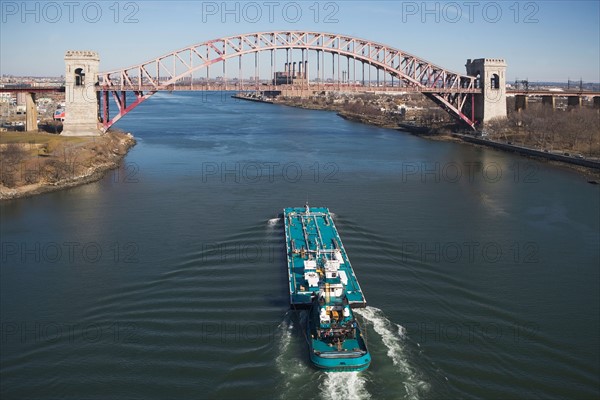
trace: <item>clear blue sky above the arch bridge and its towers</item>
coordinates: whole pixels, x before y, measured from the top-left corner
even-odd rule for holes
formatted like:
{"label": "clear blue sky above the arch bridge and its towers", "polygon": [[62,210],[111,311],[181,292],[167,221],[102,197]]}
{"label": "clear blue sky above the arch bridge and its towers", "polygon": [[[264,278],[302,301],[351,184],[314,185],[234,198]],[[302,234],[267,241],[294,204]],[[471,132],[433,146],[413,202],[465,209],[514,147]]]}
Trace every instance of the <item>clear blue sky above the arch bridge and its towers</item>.
{"label": "clear blue sky above the arch bridge and its towers", "polygon": [[66,50],[100,70],[222,36],[316,30],[357,36],[456,72],[504,58],[508,80],[600,81],[600,1],[0,1],[0,73],[61,75]]}

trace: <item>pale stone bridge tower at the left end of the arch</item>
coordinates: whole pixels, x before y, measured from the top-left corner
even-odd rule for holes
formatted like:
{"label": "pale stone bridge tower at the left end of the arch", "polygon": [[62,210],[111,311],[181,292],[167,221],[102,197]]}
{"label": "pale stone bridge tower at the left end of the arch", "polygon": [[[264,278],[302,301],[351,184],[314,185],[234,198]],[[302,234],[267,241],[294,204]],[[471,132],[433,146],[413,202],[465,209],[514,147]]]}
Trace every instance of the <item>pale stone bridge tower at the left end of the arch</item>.
{"label": "pale stone bridge tower at the left end of the arch", "polygon": [[94,51],[69,50],[65,54],[65,121],[62,135],[97,136],[98,129],[98,65]]}

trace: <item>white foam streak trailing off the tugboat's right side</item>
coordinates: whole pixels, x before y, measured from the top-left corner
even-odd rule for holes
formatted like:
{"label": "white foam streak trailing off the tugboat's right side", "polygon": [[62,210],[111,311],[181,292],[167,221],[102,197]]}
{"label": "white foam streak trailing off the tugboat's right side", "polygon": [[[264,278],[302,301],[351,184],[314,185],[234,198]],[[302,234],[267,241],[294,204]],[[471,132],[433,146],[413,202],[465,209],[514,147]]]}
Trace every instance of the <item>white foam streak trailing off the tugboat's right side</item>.
{"label": "white foam streak trailing off the tugboat's right side", "polygon": [[387,355],[392,360],[393,365],[403,376],[403,385],[406,390],[406,397],[409,399],[418,399],[420,390],[427,390],[429,385],[420,380],[414,369],[408,363],[403,341],[406,330],[404,327],[391,322],[378,308],[366,307],[357,309],[355,312],[361,315],[379,336],[381,341],[387,347]]}

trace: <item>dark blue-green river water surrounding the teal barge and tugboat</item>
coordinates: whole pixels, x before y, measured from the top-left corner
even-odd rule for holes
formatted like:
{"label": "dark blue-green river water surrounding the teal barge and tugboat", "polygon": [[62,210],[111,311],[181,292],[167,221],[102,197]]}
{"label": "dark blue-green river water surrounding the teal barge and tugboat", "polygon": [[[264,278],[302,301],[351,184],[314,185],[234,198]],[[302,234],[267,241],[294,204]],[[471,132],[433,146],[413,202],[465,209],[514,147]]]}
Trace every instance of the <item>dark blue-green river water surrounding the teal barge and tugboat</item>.
{"label": "dark blue-green river water surrounding the teal barge and tugboat", "polygon": [[[4,202],[0,397],[599,396],[598,186],[331,112],[157,94],[102,181]],[[284,207],[326,206],[362,373],[308,361]]]}

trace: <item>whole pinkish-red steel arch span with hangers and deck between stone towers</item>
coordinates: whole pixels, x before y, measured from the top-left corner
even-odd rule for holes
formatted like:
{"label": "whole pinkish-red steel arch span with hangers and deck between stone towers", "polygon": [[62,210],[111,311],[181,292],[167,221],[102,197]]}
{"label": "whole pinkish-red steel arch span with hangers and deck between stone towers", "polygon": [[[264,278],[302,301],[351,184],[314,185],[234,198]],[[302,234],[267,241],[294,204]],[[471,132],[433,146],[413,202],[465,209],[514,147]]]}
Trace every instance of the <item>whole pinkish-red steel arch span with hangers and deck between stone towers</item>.
{"label": "whole pinkish-red steel arch span with hangers and deck between stone towers", "polygon": [[[271,68],[270,76],[273,78],[278,56],[281,64],[282,50],[285,50],[286,66],[292,65],[293,59],[290,58],[290,54],[293,57],[295,51],[297,56],[300,51],[299,69],[303,65],[306,74],[306,79],[301,84],[302,89],[365,90],[365,87],[356,84],[358,82],[356,65],[361,63],[363,83],[365,81],[365,65],[367,65],[369,75],[374,68],[377,76],[380,71],[383,72],[384,80],[386,75],[391,77],[391,87],[386,87],[384,84],[383,90],[421,92],[458,120],[472,128],[475,126],[473,96],[482,93],[482,89],[474,76],[449,71],[402,50],[370,40],[333,33],[271,31],[209,40],[138,65],[100,72],[96,90],[100,92],[102,130],[106,131],[120,118],[159,91],[218,90],[219,88],[220,90],[273,90],[275,89],[273,85],[265,86],[258,79],[259,69],[264,64],[259,62],[259,57],[262,53],[267,53]],[[325,54],[331,54],[329,65],[326,65]],[[241,79],[243,57],[253,58],[250,63],[254,61],[256,76],[255,81],[246,86]],[[346,58],[347,70],[342,72],[345,73],[345,78],[340,80],[340,70],[344,67],[340,59],[343,57]],[[240,79],[232,80],[231,82],[234,84],[228,86],[225,63],[229,60],[231,60],[230,64],[237,60]],[[309,60],[311,60],[310,65],[308,64]],[[354,66],[353,84],[350,84],[349,79],[351,60]],[[197,81],[194,84],[194,74],[201,74],[205,70],[208,76],[209,67],[218,63],[223,65],[223,75],[219,87],[201,86],[197,84]],[[301,63],[302,65],[300,65]],[[248,60],[245,65],[247,66],[247,64]],[[331,68],[331,75],[334,77],[337,71],[337,85],[325,86],[326,67]],[[315,79],[311,81],[311,78]],[[394,79],[398,80],[399,86],[393,84]],[[345,84],[341,82],[345,82]],[[369,82],[371,82],[370,77]],[[379,85],[375,90],[381,90]],[[133,92],[134,95],[134,99],[130,102],[127,99],[128,92]],[[113,116],[110,115],[110,97],[113,98],[117,107]]]}

